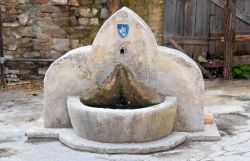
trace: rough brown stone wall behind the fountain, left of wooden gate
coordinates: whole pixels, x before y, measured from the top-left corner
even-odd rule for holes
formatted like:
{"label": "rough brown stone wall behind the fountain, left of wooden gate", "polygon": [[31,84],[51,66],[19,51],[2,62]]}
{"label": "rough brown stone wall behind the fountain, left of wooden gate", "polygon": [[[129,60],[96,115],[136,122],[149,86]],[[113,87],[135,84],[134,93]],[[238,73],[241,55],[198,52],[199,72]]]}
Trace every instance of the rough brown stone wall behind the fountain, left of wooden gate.
{"label": "rough brown stone wall behind the fountain, left of wooden gate", "polygon": [[[161,43],[163,1],[136,1],[138,5],[122,4],[142,15]],[[142,5],[144,10],[138,8]],[[1,11],[4,56],[22,59],[57,59],[73,48],[92,44],[108,18],[107,0],[4,0]],[[9,61],[7,80],[42,78],[50,63]]]}

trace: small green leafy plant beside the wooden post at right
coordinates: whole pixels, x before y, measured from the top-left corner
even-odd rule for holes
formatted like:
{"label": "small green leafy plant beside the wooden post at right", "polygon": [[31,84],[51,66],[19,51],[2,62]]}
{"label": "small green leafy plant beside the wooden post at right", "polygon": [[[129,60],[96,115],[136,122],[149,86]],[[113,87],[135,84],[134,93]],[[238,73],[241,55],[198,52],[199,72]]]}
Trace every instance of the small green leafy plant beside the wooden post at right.
{"label": "small green leafy plant beside the wooden post at right", "polygon": [[236,78],[250,78],[250,66],[239,64],[233,67],[233,75]]}

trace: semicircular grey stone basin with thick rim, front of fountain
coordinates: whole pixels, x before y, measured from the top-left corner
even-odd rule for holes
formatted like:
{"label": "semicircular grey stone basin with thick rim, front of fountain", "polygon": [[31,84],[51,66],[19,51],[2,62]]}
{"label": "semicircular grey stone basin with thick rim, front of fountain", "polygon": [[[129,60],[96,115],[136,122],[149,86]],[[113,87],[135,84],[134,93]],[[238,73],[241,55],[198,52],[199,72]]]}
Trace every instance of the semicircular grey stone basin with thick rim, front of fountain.
{"label": "semicircular grey stone basin with thick rim, front of fountain", "polygon": [[67,108],[74,132],[85,139],[105,143],[142,143],[168,136],[173,131],[176,97],[140,109],[109,109],[84,105],[69,96]]}

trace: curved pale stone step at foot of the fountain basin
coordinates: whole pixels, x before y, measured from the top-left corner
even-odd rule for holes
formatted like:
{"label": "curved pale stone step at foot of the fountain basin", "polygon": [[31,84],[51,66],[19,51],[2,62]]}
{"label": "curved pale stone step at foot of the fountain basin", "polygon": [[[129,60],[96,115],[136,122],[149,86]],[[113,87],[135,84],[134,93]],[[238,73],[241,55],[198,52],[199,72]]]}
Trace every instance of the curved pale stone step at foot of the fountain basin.
{"label": "curved pale stone step at foot of the fountain basin", "polygon": [[73,130],[68,130],[59,135],[59,140],[72,149],[108,154],[147,154],[152,152],[167,151],[186,140],[184,134],[173,133],[166,138],[145,143],[101,143],[78,137]]}

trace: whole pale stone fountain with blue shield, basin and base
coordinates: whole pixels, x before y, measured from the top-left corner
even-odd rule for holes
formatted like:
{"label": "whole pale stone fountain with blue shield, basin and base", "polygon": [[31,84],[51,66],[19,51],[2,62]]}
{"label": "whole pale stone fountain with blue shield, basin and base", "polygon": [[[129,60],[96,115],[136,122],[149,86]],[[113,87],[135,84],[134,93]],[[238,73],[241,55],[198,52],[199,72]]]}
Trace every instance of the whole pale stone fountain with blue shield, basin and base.
{"label": "whole pale stone fountain with blue shield, basin and base", "polygon": [[158,46],[149,26],[124,7],[93,45],[56,60],[44,80],[44,127],[28,138],[56,138],[82,151],[150,153],[191,140],[219,140],[204,125],[204,81],[186,54]]}

